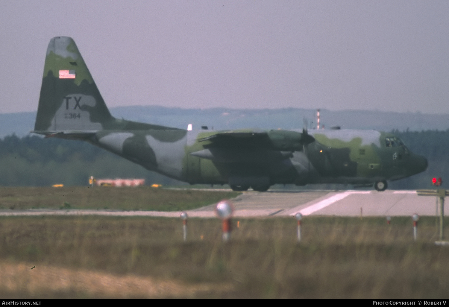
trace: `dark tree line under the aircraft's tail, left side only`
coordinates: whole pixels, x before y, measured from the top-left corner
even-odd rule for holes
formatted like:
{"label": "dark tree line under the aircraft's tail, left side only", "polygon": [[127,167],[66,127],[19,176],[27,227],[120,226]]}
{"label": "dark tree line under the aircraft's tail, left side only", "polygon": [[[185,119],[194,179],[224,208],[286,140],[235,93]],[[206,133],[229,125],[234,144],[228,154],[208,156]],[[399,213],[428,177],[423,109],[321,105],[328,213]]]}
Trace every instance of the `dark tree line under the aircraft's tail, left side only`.
{"label": "dark tree line under the aircraft's tail, left side only", "polygon": [[15,135],[0,139],[0,186],[88,185],[89,176],[179,184],[86,142]]}

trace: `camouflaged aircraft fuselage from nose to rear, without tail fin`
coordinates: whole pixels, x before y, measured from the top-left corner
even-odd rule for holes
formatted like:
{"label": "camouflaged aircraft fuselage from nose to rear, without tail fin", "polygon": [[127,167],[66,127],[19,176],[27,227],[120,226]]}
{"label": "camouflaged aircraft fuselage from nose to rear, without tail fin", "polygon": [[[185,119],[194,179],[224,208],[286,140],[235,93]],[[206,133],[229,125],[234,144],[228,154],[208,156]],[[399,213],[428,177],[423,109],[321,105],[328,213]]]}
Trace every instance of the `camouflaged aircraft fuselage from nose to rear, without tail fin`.
{"label": "camouflaged aircraft fuselage from nose to rear, without tail fin", "polygon": [[[427,167],[390,133],[312,130],[299,150],[216,147],[213,131],[99,131],[91,142],[151,171],[190,184],[230,184],[263,190],[272,184],[370,184],[398,180]],[[298,132],[299,133],[299,132]],[[237,144],[239,145],[239,144]],[[287,146],[288,147],[288,146]]]}

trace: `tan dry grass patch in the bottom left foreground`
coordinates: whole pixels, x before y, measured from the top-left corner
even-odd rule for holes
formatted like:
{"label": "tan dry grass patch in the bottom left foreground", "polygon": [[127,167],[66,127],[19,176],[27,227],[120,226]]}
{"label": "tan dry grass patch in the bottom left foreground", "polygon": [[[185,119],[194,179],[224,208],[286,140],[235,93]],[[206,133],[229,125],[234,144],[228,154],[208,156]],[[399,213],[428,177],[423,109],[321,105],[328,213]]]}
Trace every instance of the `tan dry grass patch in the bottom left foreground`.
{"label": "tan dry grass patch in the bottom left foreground", "polygon": [[[33,269],[31,269],[33,268]],[[86,269],[31,263],[0,263],[0,289],[19,297],[75,298],[194,298],[198,293],[231,289],[231,284],[198,283],[119,276]]]}

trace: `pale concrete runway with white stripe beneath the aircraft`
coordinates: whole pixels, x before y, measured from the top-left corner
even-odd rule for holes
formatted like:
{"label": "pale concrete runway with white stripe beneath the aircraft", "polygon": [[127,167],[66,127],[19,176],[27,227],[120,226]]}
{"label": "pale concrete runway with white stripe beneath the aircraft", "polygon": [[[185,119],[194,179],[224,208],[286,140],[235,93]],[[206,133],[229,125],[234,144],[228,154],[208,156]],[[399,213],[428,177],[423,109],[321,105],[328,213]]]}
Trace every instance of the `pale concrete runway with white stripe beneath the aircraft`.
{"label": "pale concrete runway with white stripe beneath the aircraft", "polygon": [[[296,213],[327,216],[410,216],[436,215],[436,197],[418,196],[414,190],[378,191],[269,191],[244,192],[230,200],[234,217],[268,218],[294,216]],[[215,204],[186,211],[189,217],[213,218]],[[446,210],[448,212],[448,210]],[[179,217],[180,211],[111,210],[3,210],[0,216],[104,215]],[[447,215],[447,214],[445,214]]]}

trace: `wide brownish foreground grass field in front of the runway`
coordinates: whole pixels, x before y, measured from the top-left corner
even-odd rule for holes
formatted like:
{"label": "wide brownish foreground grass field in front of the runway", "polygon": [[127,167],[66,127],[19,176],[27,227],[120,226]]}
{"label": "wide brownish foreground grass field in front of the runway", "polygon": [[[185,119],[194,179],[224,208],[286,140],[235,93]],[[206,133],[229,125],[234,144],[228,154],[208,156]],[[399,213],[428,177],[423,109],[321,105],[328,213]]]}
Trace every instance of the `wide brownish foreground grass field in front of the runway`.
{"label": "wide brownish foreground grass field in front of the runway", "polygon": [[[237,222],[239,227],[237,228]],[[3,298],[447,298],[435,219],[0,218]],[[445,236],[448,237],[449,233]],[[33,268],[33,269],[31,269]]]}

